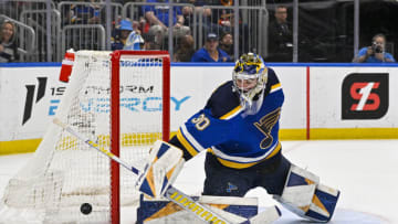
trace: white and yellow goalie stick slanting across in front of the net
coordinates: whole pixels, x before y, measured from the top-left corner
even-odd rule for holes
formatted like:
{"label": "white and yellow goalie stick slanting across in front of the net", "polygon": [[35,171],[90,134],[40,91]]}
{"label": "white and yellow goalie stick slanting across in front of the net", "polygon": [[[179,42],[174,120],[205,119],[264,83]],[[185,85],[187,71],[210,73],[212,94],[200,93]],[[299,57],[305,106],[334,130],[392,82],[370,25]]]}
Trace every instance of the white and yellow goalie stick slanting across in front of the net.
{"label": "white and yellow goalie stick slanting across in front of the net", "polygon": [[[93,149],[96,149],[97,151],[102,152],[109,159],[116,161],[124,168],[128,169],[129,171],[134,172],[136,175],[139,175],[139,170],[136,169],[134,166],[128,164],[127,162],[123,161],[119,157],[112,153],[109,150],[100,147],[97,143],[92,141],[91,139],[84,137],[82,134],[75,131],[72,127],[70,127],[67,124],[62,122],[59,118],[54,118],[53,122],[60,127],[62,127],[67,132],[72,134],[77,139],[84,141],[87,146],[90,146]],[[273,221],[277,220],[281,216],[281,212],[276,206],[268,207],[264,212],[245,220],[243,222],[231,222],[228,221],[226,217],[222,217],[221,215],[213,212],[210,207],[195,201],[191,196],[185,194],[184,192],[179,191],[178,189],[170,185],[165,195],[166,199],[169,201],[176,203],[181,209],[188,211],[189,213],[193,214],[195,216],[199,217],[200,220],[205,221],[209,224],[233,224],[233,223],[262,223],[268,224],[272,223]]]}

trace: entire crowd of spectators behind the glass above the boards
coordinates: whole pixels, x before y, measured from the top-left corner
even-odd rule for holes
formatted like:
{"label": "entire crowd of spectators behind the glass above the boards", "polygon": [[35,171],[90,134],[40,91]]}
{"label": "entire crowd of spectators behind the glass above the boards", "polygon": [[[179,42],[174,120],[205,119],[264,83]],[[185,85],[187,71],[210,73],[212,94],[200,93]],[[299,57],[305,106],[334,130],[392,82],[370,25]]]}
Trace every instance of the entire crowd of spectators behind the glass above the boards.
{"label": "entire crowd of spectators behind the glass above the boards", "polygon": [[[33,2],[39,7],[32,8]],[[53,26],[49,31],[44,17],[49,4],[45,1],[6,0],[0,3],[0,62],[45,61],[45,57],[60,61],[60,55],[67,49],[170,51],[170,44],[174,62],[232,62],[235,55],[244,52],[258,53],[269,62],[294,60],[291,4],[274,3],[272,10],[266,11],[270,8],[265,8],[264,1],[244,1],[235,13],[233,0],[111,2],[109,9],[104,0],[52,0]],[[28,17],[22,11],[28,12]],[[111,28],[111,35],[107,28]],[[234,36],[235,30],[239,30],[238,36]],[[54,36],[49,39],[49,32]],[[18,34],[24,38],[18,38]],[[31,36],[35,41],[25,43]],[[381,53],[376,52],[375,46],[366,46],[349,60],[356,63],[395,62],[394,52],[387,52],[386,34],[380,33],[379,38],[383,39],[378,41]],[[52,52],[46,49],[49,40]],[[298,62],[333,62],[327,52],[329,45],[315,44],[315,40],[303,35],[297,44],[305,46],[300,51],[298,56],[303,60]],[[335,49],[337,42],[336,45]]]}

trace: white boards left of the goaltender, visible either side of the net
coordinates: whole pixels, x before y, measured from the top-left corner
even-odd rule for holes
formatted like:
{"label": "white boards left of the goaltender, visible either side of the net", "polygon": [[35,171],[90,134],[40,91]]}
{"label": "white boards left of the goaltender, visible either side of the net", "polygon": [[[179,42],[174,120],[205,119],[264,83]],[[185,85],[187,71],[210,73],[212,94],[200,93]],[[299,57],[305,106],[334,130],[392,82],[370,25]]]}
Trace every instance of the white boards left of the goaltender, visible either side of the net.
{"label": "white boards left of the goaltender, visible either side of the net", "polygon": [[[206,105],[218,85],[231,78],[231,70],[171,67],[172,131]],[[57,66],[0,68],[0,141],[42,138],[67,85],[59,82],[59,73]]]}

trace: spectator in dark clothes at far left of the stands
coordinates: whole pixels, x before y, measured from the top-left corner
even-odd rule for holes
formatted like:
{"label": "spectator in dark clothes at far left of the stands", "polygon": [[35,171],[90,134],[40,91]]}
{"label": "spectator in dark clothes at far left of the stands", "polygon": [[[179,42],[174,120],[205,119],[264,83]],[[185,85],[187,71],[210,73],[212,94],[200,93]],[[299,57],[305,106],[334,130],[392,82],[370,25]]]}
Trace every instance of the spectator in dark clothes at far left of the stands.
{"label": "spectator in dark clothes at far left of the stands", "polygon": [[19,60],[14,33],[15,25],[6,20],[0,30],[0,63],[17,62]]}

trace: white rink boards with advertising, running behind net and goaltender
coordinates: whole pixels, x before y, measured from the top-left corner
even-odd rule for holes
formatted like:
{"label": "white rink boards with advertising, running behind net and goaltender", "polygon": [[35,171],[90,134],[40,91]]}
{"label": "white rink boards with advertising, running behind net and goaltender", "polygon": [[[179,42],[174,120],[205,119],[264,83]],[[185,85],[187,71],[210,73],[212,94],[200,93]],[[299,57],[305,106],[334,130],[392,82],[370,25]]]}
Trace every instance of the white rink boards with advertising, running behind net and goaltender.
{"label": "white rink boards with advertising, running behind net and goaltender", "polygon": [[[171,65],[171,131],[231,79],[232,67]],[[281,129],[305,130],[307,119],[314,129],[397,128],[398,67],[310,66],[308,74],[300,64],[271,67],[285,94]],[[0,67],[0,141],[42,138],[67,85],[57,81],[59,72],[59,66]]]}

